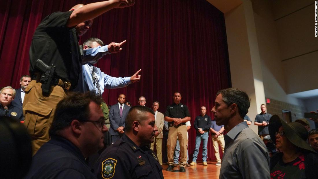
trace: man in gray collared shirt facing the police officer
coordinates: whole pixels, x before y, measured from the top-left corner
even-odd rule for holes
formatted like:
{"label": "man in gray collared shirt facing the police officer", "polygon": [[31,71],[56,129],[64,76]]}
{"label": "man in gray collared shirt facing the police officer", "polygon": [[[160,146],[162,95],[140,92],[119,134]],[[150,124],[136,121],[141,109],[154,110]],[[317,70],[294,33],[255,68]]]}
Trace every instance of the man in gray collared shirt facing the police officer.
{"label": "man in gray collared shirt facing the police officer", "polygon": [[225,151],[220,179],[269,179],[269,154],[263,141],[243,121],[250,107],[248,95],[237,88],[218,91],[214,113],[218,126],[224,125]]}

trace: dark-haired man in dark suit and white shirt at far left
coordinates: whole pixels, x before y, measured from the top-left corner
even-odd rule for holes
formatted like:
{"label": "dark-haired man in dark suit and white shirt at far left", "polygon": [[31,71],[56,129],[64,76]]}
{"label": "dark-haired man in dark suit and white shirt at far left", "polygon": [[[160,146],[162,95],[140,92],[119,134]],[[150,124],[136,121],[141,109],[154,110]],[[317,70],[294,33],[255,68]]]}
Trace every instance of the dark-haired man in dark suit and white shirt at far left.
{"label": "dark-haired man in dark suit and white shirt at far left", "polygon": [[16,97],[14,100],[11,102],[11,104],[15,107],[18,107],[22,111],[22,105],[23,105],[23,100],[24,100],[24,95],[25,95],[25,88],[29,85],[31,82],[31,77],[29,75],[23,75],[20,78],[20,85],[21,88],[16,89]]}

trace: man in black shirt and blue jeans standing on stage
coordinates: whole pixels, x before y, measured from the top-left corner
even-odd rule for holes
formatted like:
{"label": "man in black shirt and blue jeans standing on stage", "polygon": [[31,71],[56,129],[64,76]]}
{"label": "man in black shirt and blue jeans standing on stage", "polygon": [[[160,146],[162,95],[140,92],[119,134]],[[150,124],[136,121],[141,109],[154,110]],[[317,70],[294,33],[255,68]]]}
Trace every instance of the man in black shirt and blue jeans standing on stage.
{"label": "man in black shirt and blue jeans standing on stage", "polygon": [[203,140],[203,151],[202,151],[202,161],[203,165],[208,165],[206,159],[208,158],[208,139],[209,139],[209,129],[211,127],[211,117],[206,115],[206,107],[201,107],[201,115],[197,116],[194,120],[194,128],[197,130],[196,137],[196,147],[193,152],[193,159],[190,165],[197,164],[197,156],[199,154],[199,148],[201,140]]}

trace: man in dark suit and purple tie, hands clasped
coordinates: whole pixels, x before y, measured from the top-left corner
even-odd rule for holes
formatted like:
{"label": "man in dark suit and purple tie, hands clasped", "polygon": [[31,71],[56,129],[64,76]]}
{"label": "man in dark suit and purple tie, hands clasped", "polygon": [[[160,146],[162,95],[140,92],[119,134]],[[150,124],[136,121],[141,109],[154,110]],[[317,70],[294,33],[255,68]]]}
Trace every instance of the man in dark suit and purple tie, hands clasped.
{"label": "man in dark suit and purple tie, hands clasped", "polygon": [[130,109],[125,105],[126,96],[120,94],[118,96],[118,103],[112,105],[109,111],[110,128],[109,133],[111,135],[112,143],[115,143],[121,138],[125,132],[125,120]]}

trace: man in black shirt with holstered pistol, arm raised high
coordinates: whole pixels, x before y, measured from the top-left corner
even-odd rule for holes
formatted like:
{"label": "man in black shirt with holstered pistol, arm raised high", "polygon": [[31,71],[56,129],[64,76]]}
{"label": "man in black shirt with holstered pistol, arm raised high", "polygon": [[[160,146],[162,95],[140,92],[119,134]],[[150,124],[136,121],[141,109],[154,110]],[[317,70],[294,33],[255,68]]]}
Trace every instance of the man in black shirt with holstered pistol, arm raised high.
{"label": "man in black shirt with holstered pistol, arm raised high", "polygon": [[[67,12],[54,12],[43,19],[34,32],[30,47],[29,72],[32,81],[25,89],[23,111],[25,126],[32,137],[33,154],[49,140],[55,107],[66,93],[77,85],[82,64],[78,38],[86,33],[93,18],[113,8],[134,5],[134,0],[117,0],[75,5]],[[116,46],[117,45],[117,46]],[[120,51],[119,44],[111,47]],[[87,55],[87,54],[86,54]],[[43,78],[43,72],[36,67],[41,59],[46,65],[56,66],[51,80]],[[52,86],[41,88],[52,81]],[[44,86],[43,86],[44,87]],[[42,90],[47,92],[43,92]]]}

